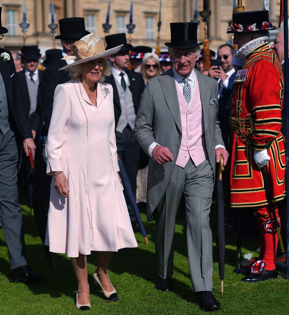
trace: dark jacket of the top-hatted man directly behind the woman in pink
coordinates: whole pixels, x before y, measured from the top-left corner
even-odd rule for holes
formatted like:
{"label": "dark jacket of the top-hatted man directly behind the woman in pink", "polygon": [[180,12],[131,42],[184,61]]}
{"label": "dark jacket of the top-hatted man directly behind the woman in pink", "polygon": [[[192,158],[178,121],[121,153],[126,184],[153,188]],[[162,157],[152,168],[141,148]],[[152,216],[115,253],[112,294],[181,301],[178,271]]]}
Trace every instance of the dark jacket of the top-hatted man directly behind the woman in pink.
{"label": "dark jacket of the top-hatted man directly behind the woman in pink", "polygon": [[48,134],[55,88],[58,84],[66,83],[71,79],[68,71],[58,71],[58,69],[67,65],[66,61],[61,60],[61,58],[63,58],[62,54],[57,55],[43,71],[42,80],[39,84],[41,98],[40,117],[44,121],[43,135]]}

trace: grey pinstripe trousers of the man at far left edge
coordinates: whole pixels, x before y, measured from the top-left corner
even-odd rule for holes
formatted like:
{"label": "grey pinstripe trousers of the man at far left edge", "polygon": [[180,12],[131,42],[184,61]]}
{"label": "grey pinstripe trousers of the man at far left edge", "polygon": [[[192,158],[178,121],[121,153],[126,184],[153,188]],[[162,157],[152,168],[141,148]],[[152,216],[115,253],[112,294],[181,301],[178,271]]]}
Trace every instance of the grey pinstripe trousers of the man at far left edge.
{"label": "grey pinstripe trousers of the man at far left edge", "polygon": [[26,265],[22,212],[17,190],[18,150],[14,133],[0,131],[0,215],[9,251],[10,269]]}

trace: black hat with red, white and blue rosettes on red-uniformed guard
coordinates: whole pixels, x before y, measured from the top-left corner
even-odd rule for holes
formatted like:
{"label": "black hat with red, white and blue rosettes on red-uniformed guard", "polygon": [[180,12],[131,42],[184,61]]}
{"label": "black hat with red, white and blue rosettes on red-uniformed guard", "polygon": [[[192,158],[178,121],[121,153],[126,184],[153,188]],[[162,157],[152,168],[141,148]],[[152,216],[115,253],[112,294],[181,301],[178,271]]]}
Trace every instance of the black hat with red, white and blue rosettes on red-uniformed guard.
{"label": "black hat with red, white and blue rosettes on red-uniformed guard", "polygon": [[253,31],[273,31],[277,27],[269,21],[269,11],[234,12],[231,28],[228,33],[250,33]]}

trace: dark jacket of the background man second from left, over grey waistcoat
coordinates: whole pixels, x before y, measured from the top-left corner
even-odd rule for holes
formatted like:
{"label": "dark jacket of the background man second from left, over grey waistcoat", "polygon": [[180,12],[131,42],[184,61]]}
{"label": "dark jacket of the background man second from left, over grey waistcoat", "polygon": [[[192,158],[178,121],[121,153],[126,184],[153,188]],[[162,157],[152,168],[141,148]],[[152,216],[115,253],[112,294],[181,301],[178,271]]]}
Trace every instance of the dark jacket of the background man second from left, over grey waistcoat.
{"label": "dark jacket of the background man second from left, over grey waistcoat", "polygon": [[[38,70],[38,75],[39,75],[39,84],[41,82],[41,78],[43,75],[43,71],[39,71]],[[26,82],[26,75],[25,75],[25,71],[20,71],[17,73],[17,77],[19,80],[19,84],[20,84],[20,90],[23,96],[23,101],[24,101],[24,105],[26,107],[27,112],[29,113],[30,111],[30,97],[29,97],[29,93],[28,93],[28,88],[27,88],[27,82]],[[39,89],[38,89],[38,93],[39,93]],[[39,129],[39,108],[38,108],[38,104],[36,107],[35,112],[33,112],[30,115],[30,123],[31,123],[31,129],[38,131]]]}

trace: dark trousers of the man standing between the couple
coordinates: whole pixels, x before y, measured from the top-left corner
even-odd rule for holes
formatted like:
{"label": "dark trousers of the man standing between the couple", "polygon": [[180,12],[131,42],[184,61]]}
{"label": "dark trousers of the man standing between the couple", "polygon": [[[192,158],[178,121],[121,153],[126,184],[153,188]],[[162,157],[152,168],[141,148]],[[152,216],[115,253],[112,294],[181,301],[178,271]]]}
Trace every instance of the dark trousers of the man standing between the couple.
{"label": "dark trousers of the man standing between the couple", "polygon": [[[122,133],[115,131],[115,137],[118,156],[124,162],[125,170],[130,179],[131,188],[134,192],[134,195],[136,196],[136,175],[139,167],[141,147],[136,141],[136,137],[129,126],[124,128]],[[125,192],[124,198],[127,204],[127,209],[129,211],[130,221],[132,223],[135,223],[136,218]]]}

